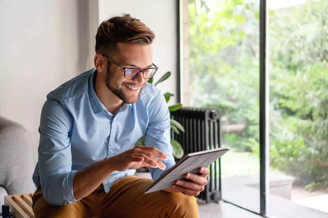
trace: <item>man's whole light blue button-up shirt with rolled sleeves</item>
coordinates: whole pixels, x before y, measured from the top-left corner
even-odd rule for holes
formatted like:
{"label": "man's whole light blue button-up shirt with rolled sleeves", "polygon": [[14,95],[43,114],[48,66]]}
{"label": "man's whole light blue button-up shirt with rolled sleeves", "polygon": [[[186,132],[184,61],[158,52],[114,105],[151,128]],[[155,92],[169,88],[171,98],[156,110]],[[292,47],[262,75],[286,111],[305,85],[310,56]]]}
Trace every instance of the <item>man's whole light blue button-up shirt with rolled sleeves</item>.
{"label": "man's whole light blue button-up shirt with rolled sleeves", "polygon": [[[70,204],[73,178],[78,170],[133,148],[145,136],[168,156],[166,169],[175,162],[170,144],[170,113],[163,96],[147,83],[135,104],[123,104],[116,115],[108,112],[94,88],[95,68],[51,91],[43,105],[39,126],[38,163],[33,174],[36,187],[52,205]],[[165,170],[150,168],[153,180]],[[113,183],[135,170],[115,171],[104,182],[105,192]]]}

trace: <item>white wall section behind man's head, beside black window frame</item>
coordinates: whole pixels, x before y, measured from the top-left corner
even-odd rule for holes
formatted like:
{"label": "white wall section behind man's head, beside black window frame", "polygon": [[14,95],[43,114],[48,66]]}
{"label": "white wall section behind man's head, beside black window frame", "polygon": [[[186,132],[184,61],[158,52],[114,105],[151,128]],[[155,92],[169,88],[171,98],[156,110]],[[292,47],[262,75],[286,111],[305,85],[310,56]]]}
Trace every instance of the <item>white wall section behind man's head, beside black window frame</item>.
{"label": "white wall section behind man's head, beside black window frame", "polygon": [[177,0],[99,0],[99,24],[112,17],[131,14],[140,19],[145,25],[155,32],[156,39],[153,43],[153,62],[159,68],[154,77],[157,81],[167,71],[171,77],[158,87],[163,92],[174,93],[169,105],[176,103],[177,81],[177,30],[176,30],[176,1]]}

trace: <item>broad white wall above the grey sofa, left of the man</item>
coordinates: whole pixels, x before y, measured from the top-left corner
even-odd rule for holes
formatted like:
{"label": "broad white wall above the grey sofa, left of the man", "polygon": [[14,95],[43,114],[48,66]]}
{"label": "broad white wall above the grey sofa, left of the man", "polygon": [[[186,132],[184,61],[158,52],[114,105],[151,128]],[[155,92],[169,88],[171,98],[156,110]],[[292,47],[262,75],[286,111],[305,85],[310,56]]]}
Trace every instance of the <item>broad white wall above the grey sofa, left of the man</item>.
{"label": "broad white wall above the grey sofa, left of the man", "polygon": [[28,129],[34,160],[47,93],[87,70],[86,24],[87,0],[0,1],[0,114]]}

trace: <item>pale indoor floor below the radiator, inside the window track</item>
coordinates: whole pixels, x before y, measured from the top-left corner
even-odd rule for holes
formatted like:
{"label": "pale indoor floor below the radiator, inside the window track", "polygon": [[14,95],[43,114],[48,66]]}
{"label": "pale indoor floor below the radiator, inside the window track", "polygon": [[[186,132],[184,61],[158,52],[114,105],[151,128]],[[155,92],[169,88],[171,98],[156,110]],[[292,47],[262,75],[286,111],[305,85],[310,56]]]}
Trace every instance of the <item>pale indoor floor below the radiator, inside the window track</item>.
{"label": "pale indoor floor below the radiator, inside the window track", "polygon": [[220,202],[219,204],[199,203],[199,215],[200,218],[262,218],[259,215],[225,202]]}

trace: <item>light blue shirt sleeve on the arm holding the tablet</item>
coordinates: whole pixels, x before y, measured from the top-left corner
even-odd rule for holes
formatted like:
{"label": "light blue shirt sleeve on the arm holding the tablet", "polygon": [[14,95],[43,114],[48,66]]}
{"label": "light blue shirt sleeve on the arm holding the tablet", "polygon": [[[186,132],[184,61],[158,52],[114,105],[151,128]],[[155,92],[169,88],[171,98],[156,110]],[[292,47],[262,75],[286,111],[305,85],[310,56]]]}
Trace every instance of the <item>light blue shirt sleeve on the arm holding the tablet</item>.
{"label": "light blue shirt sleeve on the arm holding the tablet", "polygon": [[163,152],[168,159],[162,160],[165,170],[149,168],[153,180],[174,166],[173,147],[171,145],[171,119],[169,107],[162,92],[158,92],[148,108],[149,124],[145,134],[145,144]]}

